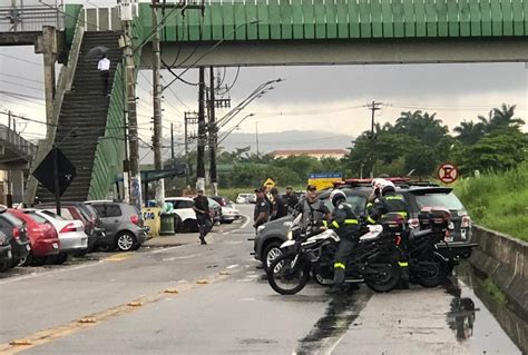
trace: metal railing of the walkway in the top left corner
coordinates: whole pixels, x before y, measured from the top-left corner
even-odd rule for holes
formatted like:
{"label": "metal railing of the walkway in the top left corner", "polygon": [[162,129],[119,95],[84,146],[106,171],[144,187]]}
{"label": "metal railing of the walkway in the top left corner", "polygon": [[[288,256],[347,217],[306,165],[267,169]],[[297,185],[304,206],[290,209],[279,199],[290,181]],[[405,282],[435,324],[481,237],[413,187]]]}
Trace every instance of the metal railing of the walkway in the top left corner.
{"label": "metal railing of the walkway in the top left corner", "polygon": [[33,32],[41,31],[42,26],[65,28],[62,0],[53,4],[25,4],[28,1],[16,1],[14,6],[0,7],[0,32]]}

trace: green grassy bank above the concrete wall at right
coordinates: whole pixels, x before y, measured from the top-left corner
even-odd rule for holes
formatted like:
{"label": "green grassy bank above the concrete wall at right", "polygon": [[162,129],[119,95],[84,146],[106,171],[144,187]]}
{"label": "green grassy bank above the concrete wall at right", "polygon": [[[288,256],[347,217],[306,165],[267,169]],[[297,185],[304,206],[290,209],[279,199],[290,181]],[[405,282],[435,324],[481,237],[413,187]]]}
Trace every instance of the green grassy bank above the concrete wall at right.
{"label": "green grassy bank above the concrete wall at right", "polygon": [[528,162],[460,180],[454,193],[478,224],[528,241]]}

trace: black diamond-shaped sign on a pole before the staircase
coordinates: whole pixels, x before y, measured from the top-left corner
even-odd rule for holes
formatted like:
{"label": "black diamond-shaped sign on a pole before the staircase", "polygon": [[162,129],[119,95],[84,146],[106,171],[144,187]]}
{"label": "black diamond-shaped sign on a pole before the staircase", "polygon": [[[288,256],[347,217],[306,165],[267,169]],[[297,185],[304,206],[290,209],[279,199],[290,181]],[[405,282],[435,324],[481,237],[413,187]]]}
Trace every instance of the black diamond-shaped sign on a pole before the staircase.
{"label": "black diamond-shaped sign on a pole before the staircase", "polygon": [[59,148],[52,148],[32,175],[56,197],[57,211],[60,215],[60,196],[77,176],[74,164]]}

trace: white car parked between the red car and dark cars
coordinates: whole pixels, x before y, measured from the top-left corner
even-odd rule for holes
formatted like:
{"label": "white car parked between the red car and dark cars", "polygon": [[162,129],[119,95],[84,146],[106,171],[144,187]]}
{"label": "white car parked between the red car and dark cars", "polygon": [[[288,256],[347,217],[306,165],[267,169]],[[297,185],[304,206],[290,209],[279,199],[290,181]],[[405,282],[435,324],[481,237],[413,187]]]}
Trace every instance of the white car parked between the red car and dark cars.
{"label": "white car parked between the red car and dark cars", "polygon": [[68,255],[78,254],[88,248],[88,236],[85,233],[82,221],[69,220],[46,209],[28,208],[23,209],[23,213],[31,218],[38,218],[36,216],[45,218],[57,230],[60,241],[59,254],[47,257],[46,263],[63,264],[68,259]]}

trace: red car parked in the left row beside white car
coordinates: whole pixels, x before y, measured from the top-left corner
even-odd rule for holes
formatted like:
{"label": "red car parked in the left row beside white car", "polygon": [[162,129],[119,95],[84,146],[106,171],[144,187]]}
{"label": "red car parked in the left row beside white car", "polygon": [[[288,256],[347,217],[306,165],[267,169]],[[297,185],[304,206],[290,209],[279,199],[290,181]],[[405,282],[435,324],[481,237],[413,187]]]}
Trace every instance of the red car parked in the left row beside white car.
{"label": "red car parked in the left row beside white car", "polygon": [[26,265],[43,265],[46,257],[58,255],[60,250],[59,236],[55,227],[38,215],[27,215],[18,209],[9,209],[11,215],[26,223],[31,253]]}

